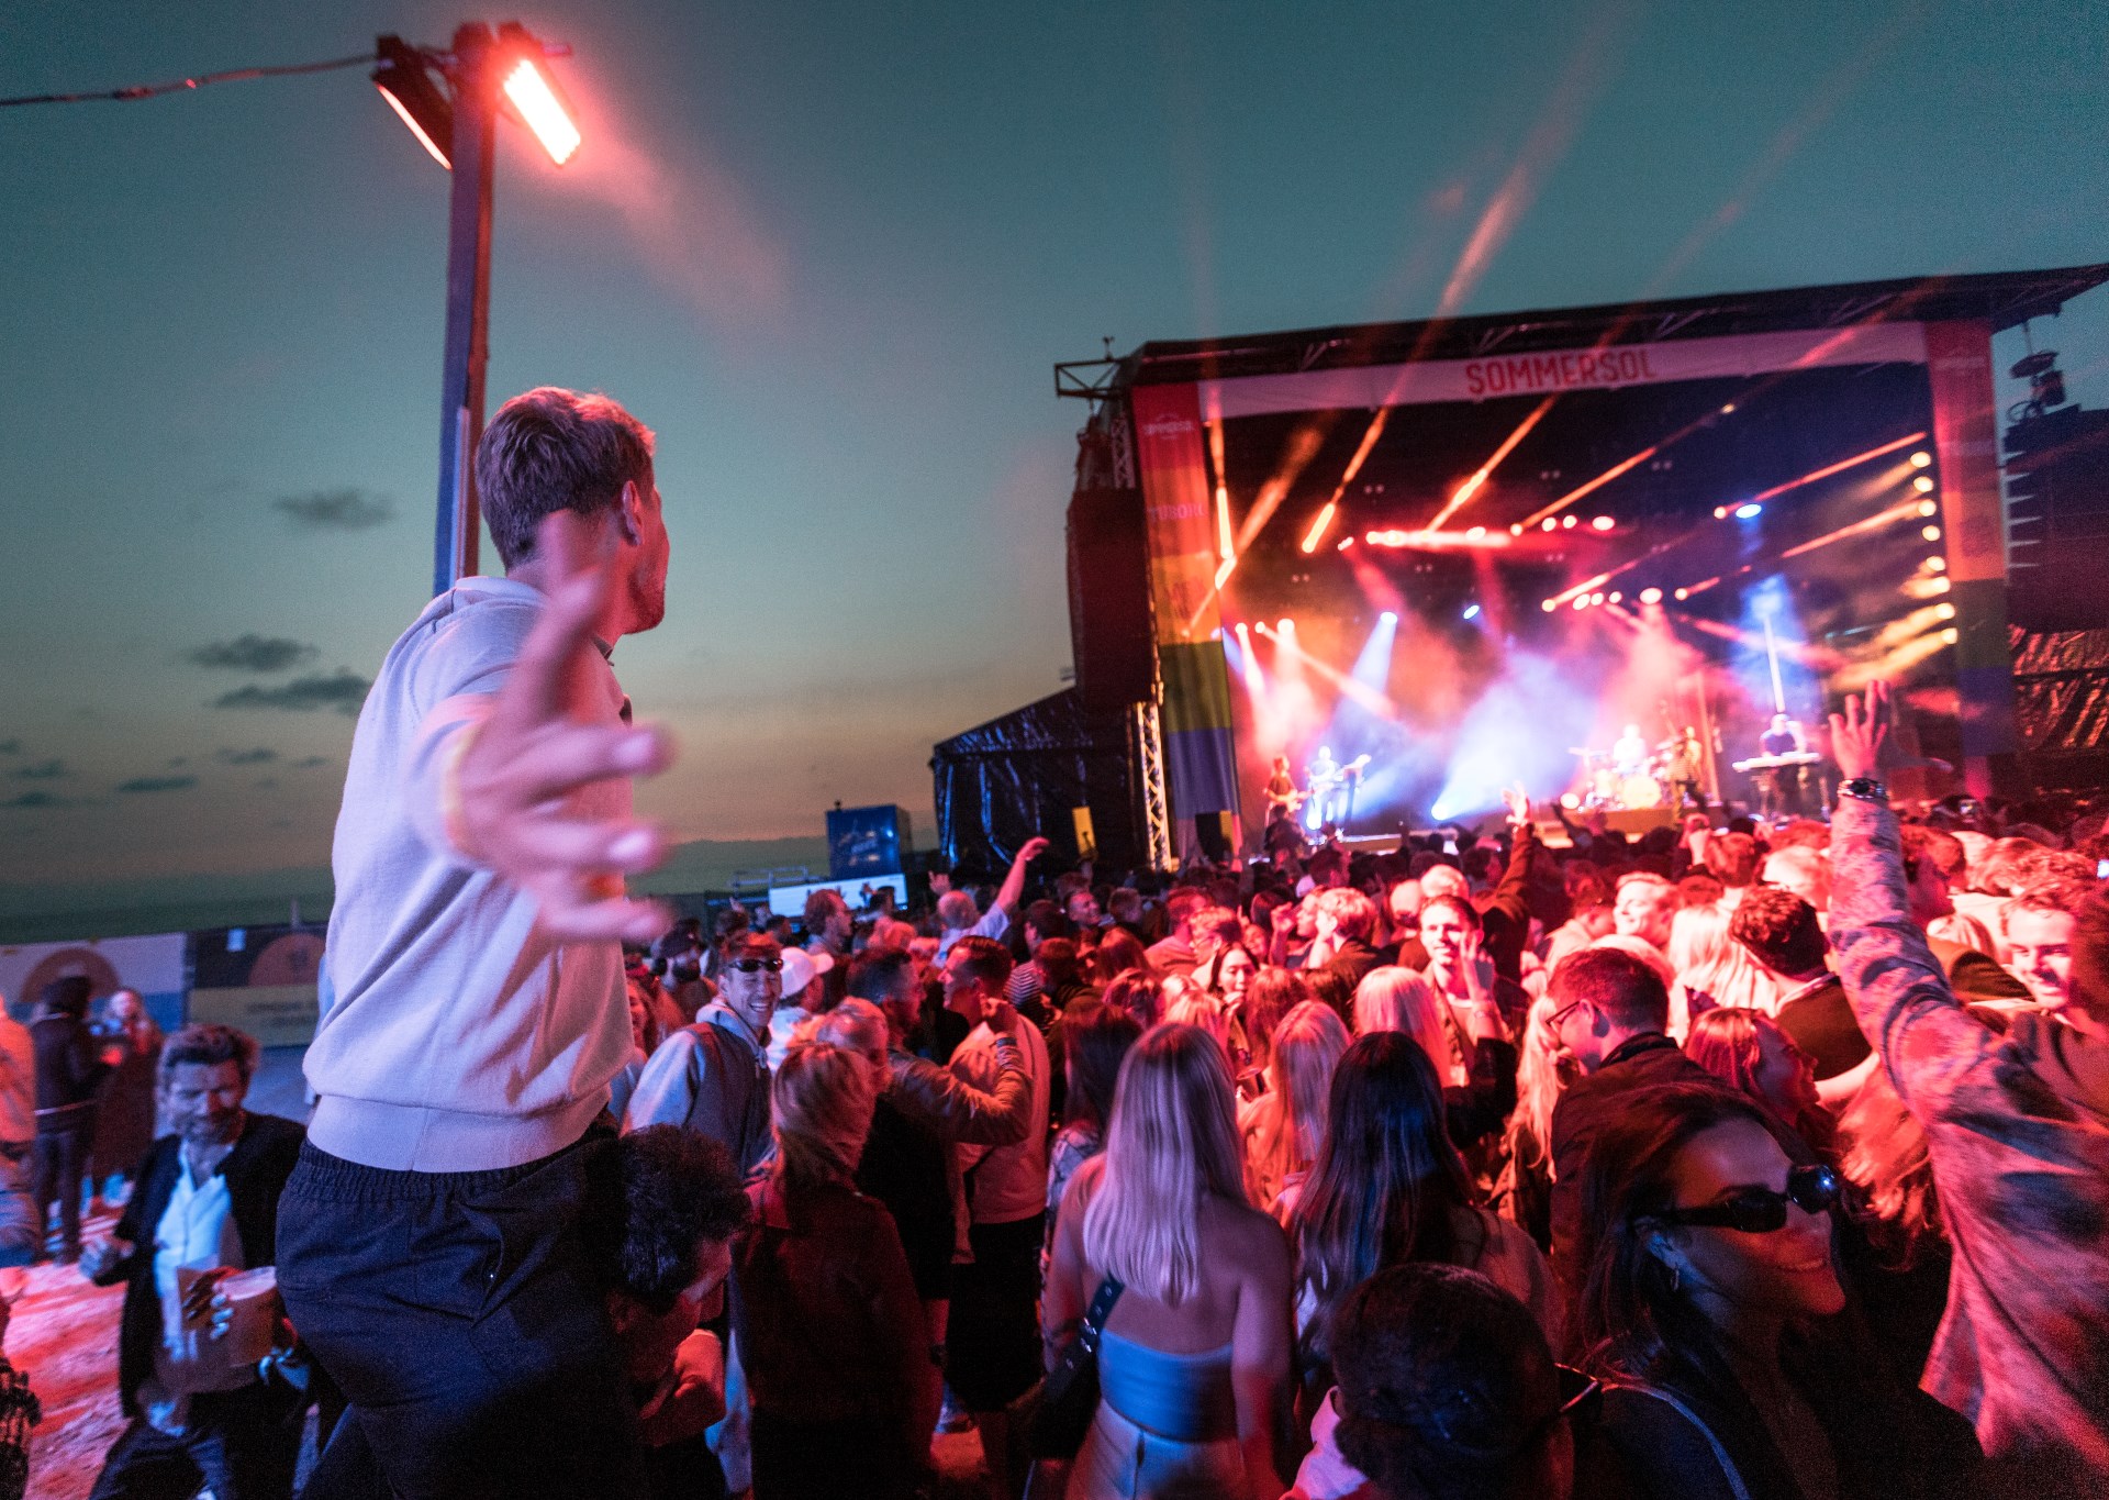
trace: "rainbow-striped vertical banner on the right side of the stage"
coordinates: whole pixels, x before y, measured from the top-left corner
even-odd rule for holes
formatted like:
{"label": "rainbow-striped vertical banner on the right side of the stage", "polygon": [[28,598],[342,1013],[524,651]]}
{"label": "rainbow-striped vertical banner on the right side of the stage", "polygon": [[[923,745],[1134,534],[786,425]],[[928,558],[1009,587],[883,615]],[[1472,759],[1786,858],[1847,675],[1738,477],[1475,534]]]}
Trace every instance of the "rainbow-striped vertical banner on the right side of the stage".
{"label": "rainbow-striped vertical banner on the right side of the stage", "polygon": [[1940,458],[1940,532],[1949,599],[1955,603],[1955,690],[1961,707],[1963,781],[1978,797],[2010,791],[2014,658],[2006,639],[2006,502],[1999,496],[1999,430],[1991,382],[1991,325],[1976,319],[1926,325],[1926,371],[1934,390]]}

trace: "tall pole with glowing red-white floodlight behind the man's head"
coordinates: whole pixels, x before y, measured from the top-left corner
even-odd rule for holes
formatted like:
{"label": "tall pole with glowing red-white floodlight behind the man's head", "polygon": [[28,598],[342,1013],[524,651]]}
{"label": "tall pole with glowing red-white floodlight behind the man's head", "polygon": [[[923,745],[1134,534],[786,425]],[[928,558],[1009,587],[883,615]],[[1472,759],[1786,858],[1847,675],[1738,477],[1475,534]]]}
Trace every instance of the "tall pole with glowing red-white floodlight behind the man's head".
{"label": "tall pole with glowing red-white floodlight behind the man's head", "polygon": [[[441,167],[453,173],[447,207],[447,344],[439,405],[439,515],[432,534],[432,593],[477,572],[481,513],[477,441],[483,437],[483,371],[489,365],[491,171],[498,112],[510,101],[559,167],[584,139],[546,46],[519,21],[494,34],[481,21],[456,30],[447,53],[409,46],[399,36],[375,42],[373,86]],[[445,82],[445,91],[441,89]]]}

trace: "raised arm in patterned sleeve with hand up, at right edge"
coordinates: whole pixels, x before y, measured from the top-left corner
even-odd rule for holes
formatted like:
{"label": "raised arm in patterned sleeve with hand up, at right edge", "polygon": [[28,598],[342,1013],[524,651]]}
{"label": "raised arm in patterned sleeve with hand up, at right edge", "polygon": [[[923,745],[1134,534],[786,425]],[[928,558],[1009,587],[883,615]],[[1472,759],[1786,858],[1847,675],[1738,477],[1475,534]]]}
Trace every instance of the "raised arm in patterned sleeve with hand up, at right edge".
{"label": "raised arm in patterned sleeve with hand up, at right edge", "polygon": [[[1894,814],[1831,825],[1831,941],[1860,1030],[1926,1131],[1955,1245],[1923,1386],[2039,1496],[2109,1487],[2109,1057],[2035,1013],[1957,1002],[1904,907]],[[2067,1487],[2073,1485],[2073,1487]]]}

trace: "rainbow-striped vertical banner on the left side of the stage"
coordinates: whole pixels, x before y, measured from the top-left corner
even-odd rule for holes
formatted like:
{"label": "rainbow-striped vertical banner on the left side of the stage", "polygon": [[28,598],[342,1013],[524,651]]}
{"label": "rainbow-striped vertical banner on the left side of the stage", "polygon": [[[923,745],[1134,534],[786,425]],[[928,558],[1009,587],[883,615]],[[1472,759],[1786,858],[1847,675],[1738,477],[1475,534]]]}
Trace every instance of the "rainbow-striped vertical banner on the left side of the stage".
{"label": "rainbow-striped vertical banner on the left side of the stage", "polygon": [[1215,519],[1192,384],[1135,386],[1135,447],[1149,523],[1149,597],[1164,679],[1164,772],[1175,819],[1238,810],[1238,751],[1230,719],[1215,597]]}

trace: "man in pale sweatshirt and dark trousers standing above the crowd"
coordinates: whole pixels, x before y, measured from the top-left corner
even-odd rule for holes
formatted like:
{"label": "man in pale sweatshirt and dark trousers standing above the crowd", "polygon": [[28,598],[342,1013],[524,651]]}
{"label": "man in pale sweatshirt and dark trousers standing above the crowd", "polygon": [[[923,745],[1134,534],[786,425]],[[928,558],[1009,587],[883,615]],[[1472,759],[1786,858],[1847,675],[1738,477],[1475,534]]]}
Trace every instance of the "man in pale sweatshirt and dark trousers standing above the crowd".
{"label": "man in pale sweatshirt and dark trousers standing above the crowd", "polygon": [[[529,390],[477,489],[506,576],[426,605],[352,741],[278,1285],[396,1496],[639,1496],[578,1224],[631,1053],[620,943],[671,924],[622,892],[666,747],[607,665],[664,614],[652,435]],[[306,1494],[337,1494],[327,1456]]]}

